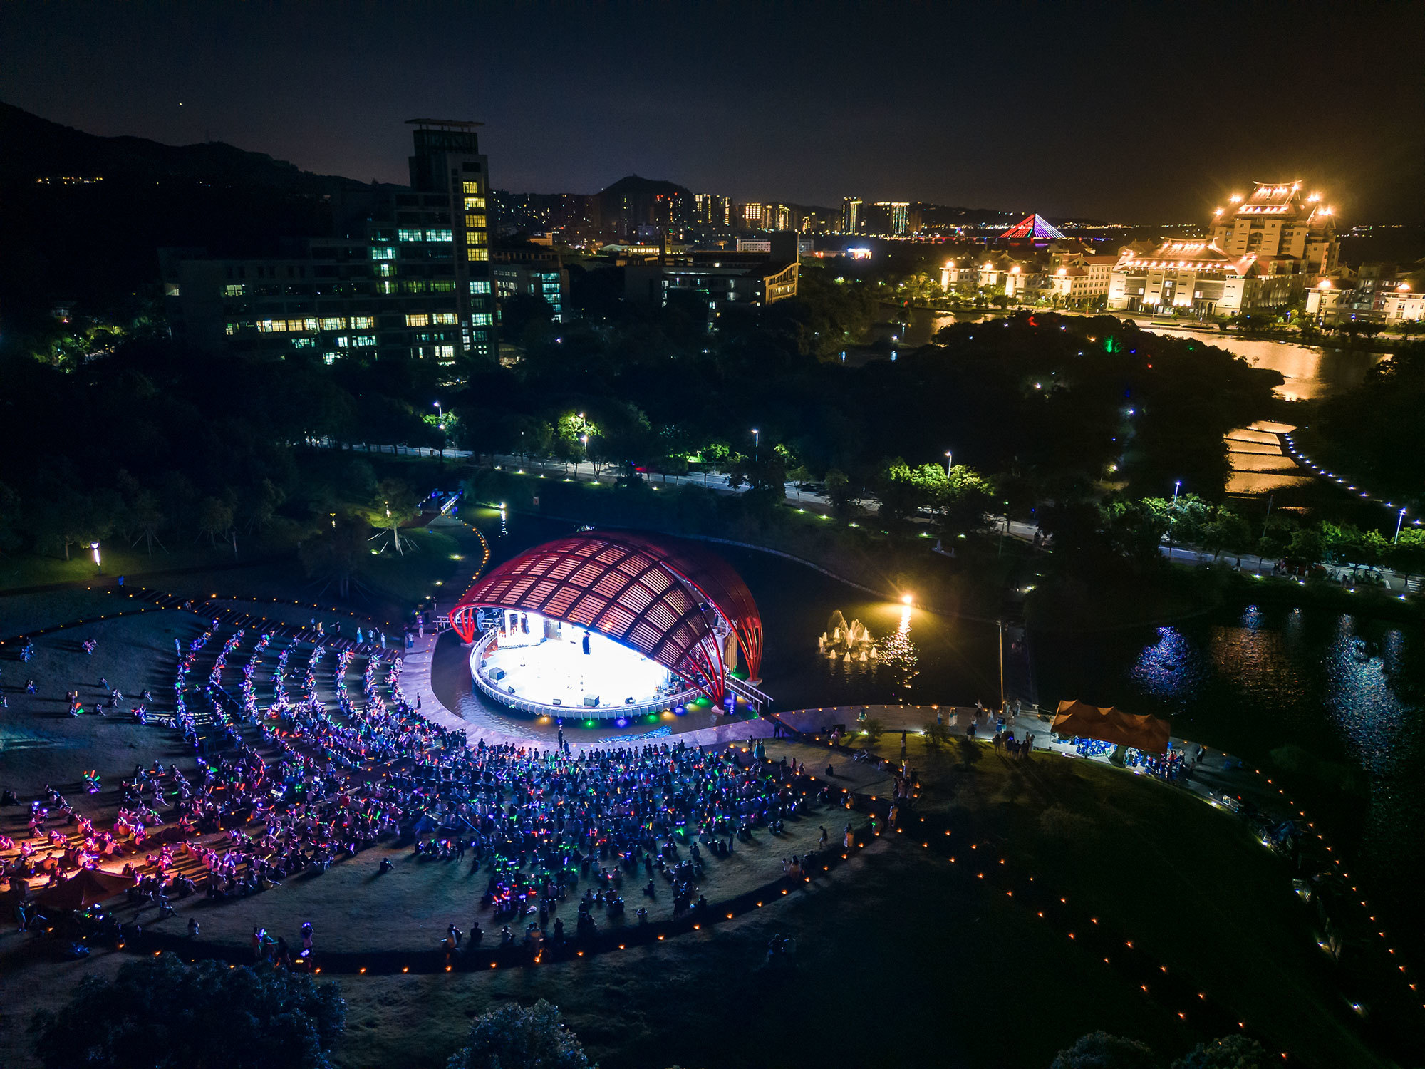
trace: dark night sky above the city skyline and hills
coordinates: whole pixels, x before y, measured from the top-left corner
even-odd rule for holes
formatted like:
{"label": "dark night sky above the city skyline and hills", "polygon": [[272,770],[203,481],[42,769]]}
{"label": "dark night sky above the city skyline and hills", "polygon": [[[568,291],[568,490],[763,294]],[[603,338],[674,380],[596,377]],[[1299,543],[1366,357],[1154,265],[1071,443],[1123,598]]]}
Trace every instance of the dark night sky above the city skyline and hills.
{"label": "dark night sky above the city skyline and hills", "polygon": [[1425,218],[1425,6],[19,3],[0,100],[406,181],[416,115],[479,118],[494,184],[624,174],[738,200],[1204,221],[1305,180]]}

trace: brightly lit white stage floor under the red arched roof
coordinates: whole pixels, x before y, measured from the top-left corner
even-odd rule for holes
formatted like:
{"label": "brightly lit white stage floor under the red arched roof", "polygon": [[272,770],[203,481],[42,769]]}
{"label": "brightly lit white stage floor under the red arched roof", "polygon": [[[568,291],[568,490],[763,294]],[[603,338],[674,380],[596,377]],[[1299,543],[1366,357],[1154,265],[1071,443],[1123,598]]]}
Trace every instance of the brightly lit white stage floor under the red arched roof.
{"label": "brightly lit white stage floor under the red arched roof", "polygon": [[[563,631],[564,639],[544,641],[534,634],[502,636],[500,649],[486,654],[486,678],[502,691],[514,687],[514,697],[560,704],[576,714],[590,708],[586,694],[596,696],[600,708],[614,708],[626,706],[626,698],[657,701],[660,687],[667,688],[668,670],[657,661],[597,633],[589,636],[586,654],[583,630],[566,626]],[[504,670],[503,678],[494,678],[497,668]],[[674,690],[685,687],[674,681]]]}

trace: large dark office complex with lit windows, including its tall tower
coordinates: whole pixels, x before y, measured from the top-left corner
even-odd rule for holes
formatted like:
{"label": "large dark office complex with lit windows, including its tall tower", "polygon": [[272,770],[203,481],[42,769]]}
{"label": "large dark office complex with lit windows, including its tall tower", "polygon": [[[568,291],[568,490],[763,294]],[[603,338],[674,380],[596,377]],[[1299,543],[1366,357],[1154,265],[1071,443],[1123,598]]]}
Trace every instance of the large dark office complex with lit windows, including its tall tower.
{"label": "large dark office complex with lit windows, including its tall tower", "polygon": [[410,188],[333,198],[336,234],[269,258],[162,249],[172,334],[197,349],[285,358],[497,355],[489,171],[475,123],[412,120]]}

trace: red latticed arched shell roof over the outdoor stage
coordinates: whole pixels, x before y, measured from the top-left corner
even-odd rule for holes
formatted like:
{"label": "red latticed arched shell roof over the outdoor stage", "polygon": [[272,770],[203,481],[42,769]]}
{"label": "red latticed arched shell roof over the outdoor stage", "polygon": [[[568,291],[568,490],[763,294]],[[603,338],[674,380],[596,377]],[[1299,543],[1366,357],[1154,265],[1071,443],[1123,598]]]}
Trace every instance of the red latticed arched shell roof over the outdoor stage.
{"label": "red latticed arched shell roof over the outdoor stage", "polygon": [[721,557],[681,539],[589,530],[520,553],[475,583],[450,626],[475,640],[477,609],[519,609],[589,627],[656,660],[714,701],[727,693],[721,616],[751,678],[762,663],[752,592]]}

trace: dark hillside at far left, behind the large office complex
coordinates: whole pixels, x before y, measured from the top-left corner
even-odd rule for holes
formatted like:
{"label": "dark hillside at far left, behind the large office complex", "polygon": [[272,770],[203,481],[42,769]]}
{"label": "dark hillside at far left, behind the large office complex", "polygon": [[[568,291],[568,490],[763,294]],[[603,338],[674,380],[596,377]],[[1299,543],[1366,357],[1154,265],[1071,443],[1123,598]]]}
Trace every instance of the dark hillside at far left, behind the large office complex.
{"label": "dark hillside at far left, behind the large office complex", "polygon": [[268,255],[329,232],[331,195],[362,187],[228,144],[95,137],[0,104],[0,342],[58,299],[133,318],[157,305],[160,248]]}

